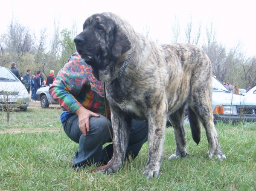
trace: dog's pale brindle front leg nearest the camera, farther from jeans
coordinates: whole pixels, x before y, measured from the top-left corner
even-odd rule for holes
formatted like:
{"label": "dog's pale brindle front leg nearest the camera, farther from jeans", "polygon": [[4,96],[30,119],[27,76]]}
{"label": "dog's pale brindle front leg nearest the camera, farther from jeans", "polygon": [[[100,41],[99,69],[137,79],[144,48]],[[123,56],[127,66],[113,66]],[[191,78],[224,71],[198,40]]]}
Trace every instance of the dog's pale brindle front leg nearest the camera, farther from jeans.
{"label": "dog's pale brindle front leg nearest the camera, farther from jeans", "polygon": [[148,118],[148,161],[143,171],[147,179],[158,177],[163,160],[166,114],[151,114]]}

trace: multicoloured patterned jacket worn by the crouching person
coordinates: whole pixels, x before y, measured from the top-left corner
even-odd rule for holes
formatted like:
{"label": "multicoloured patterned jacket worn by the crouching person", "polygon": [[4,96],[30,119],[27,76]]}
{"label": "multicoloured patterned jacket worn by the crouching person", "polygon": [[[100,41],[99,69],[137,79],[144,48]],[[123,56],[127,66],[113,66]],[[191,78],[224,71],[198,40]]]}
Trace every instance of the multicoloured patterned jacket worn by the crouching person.
{"label": "multicoloured patterned jacket worn by the crouching person", "polygon": [[[87,65],[77,53],[73,54],[58,72],[49,88],[49,94],[53,99],[58,100],[62,110],[65,111],[61,114],[62,123],[82,106],[105,116],[103,82],[94,78],[91,66]],[[109,106],[107,108],[110,118]]]}

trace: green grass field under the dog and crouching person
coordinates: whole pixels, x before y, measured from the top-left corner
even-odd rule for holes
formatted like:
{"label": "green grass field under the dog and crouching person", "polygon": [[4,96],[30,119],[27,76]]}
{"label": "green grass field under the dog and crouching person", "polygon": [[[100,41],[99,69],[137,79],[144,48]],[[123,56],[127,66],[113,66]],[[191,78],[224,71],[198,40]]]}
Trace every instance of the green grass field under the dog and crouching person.
{"label": "green grass field under the dog and crouching person", "polygon": [[62,130],[61,110],[53,105],[41,109],[39,104],[31,103],[26,112],[13,112],[9,124],[6,113],[0,111],[1,191],[256,190],[255,124],[216,125],[227,155],[224,162],[207,157],[204,129],[201,142],[196,145],[189,126],[189,157],[169,161],[168,157],[175,152],[175,138],[172,128],[167,128],[160,176],[146,180],[141,172],[147,160],[147,144],[135,160],[125,162],[116,174],[73,171],[71,164],[78,145]]}

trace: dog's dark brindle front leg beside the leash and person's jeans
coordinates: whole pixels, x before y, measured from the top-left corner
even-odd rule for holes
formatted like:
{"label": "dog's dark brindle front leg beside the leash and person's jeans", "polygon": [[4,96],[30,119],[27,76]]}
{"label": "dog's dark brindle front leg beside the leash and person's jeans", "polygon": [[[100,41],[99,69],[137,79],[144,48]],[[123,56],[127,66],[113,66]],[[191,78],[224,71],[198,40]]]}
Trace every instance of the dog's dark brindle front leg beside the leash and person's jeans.
{"label": "dog's dark brindle front leg beside the leash and person's jeans", "polygon": [[114,161],[106,169],[108,174],[115,173],[122,167],[131,130],[131,118],[118,107],[111,108],[111,122],[114,135],[114,154],[108,163],[111,163],[112,160]]}

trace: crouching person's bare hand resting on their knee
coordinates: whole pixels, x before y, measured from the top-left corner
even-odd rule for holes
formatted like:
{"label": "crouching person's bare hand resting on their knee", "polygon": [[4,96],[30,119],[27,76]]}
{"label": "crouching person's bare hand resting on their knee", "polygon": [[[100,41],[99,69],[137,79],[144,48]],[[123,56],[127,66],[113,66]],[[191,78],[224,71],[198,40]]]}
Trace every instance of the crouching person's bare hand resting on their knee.
{"label": "crouching person's bare hand resting on their knee", "polygon": [[92,111],[81,107],[76,111],[79,121],[79,129],[86,136],[87,132],[90,131],[90,117],[99,117],[99,114],[93,113]]}

